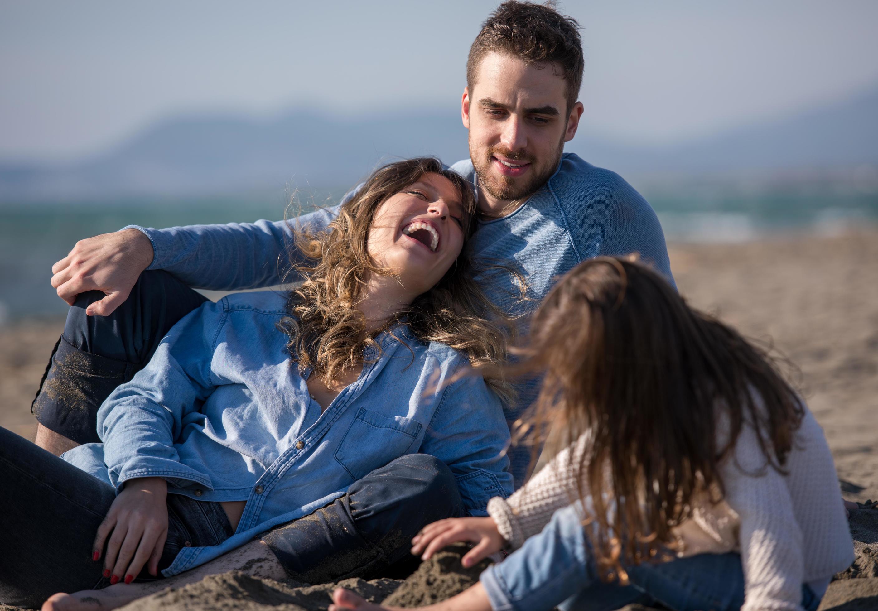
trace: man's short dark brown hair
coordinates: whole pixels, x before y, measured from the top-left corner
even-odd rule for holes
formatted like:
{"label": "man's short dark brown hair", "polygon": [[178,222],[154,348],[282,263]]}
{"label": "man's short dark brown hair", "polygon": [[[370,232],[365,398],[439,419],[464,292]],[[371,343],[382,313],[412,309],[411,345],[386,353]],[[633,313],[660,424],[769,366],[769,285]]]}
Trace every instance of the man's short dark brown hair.
{"label": "man's short dark brown hair", "polygon": [[479,63],[492,52],[512,55],[529,65],[557,66],[567,82],[567,111],[576,104],[585,68],[579,23],[556,11],[553,2],[509,0],[491,13],[473,40],[466,61],[466,85],[470,92],[476,83]]}

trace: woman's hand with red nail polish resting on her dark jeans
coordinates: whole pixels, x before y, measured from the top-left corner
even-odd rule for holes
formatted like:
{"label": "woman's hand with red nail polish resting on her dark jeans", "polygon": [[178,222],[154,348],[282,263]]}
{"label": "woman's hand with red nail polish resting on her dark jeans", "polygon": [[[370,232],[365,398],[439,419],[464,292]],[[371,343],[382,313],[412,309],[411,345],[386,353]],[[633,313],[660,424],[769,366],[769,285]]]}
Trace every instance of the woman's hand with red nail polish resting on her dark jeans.
{"label": "woman's hand with red nail polish resting on her dark jeans", "polygon": [[[149,573],[158,575],[159,559],[168,538],[168,483],[162,478],[134,478],[125,483],[97,527],[92,558],[104,557],[104,577],[126,584],[140,574],[149,561]],[[112,533],[112,536],[111,536]]]}

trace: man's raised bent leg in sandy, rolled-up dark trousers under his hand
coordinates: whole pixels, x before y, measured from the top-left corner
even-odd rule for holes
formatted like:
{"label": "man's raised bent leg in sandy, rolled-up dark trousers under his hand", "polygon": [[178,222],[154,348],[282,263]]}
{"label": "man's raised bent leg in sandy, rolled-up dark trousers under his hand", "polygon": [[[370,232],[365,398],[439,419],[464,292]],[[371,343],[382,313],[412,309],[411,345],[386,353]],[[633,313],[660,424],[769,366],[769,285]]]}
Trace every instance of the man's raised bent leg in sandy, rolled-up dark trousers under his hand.
{"label": "man's raised bent leg in sandy, rolled-up dark trousers under his hand", "polygon": [[143,272],[110,316],[87,316],[86,307],[103,297],[89,291],[76,298],[33,399],[37,443],[56,455],[100,441],[97,408],[148,363],[177,320],[206,301],[162,270]]}

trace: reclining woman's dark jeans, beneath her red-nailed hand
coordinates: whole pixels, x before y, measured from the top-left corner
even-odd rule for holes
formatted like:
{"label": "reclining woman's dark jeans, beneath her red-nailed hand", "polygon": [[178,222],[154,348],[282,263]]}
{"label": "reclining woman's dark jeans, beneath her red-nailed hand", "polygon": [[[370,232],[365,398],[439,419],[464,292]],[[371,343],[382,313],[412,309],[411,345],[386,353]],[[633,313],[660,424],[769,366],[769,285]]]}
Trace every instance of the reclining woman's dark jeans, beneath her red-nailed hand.
{"label": "reclining woman's dark jeans, beneath her red-nailed hand", "polygon": [[[0,428],[0,602],[40,607],[54,593],[108,586],[103,560],[91,552],[115,498],[112,485]],[[233,534],[219,503],[169,494],[159,570],[183,547],[219,545]],[[137,579],[155,578],[144,569]]]}

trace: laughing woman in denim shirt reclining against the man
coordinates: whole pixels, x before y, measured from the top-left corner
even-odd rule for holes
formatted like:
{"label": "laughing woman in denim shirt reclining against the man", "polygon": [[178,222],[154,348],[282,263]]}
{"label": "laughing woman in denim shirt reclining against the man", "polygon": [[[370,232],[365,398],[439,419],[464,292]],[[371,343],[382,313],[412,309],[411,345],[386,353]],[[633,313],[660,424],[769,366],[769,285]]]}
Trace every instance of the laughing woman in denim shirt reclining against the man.
{"label": "laughing woman in denim shirt reclining against the man", "polygon": [[[0,487],[16,498],[0,600],[176,574],[407,454],[448,464],[470,514],[511,492],[499,399],[462,375],[504,345],[471,280],[474,211],[467,183],[433,159],[378,169],[328,232],[299,235],[299,288],[177,323],[101,406],[103,443],[65,463],[0,431]],[[83,490],[92,502],[70,500]]]}

